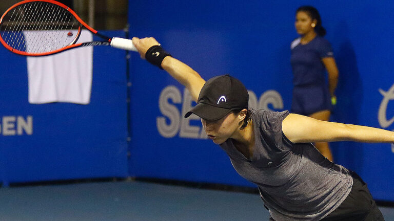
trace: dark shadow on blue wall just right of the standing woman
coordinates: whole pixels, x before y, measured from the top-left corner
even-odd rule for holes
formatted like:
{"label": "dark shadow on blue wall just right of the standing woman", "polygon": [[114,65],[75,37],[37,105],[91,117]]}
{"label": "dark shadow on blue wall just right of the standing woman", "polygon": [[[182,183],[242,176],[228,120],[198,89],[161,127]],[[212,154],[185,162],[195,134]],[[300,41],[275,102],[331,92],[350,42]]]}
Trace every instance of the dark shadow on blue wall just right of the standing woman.
{"label": "dark shadow on blue wall just right of the standing woman", "polygon": [[[339,81],[336,91],[337,105],[333,108],[331,120],[334,122],[359,124],[359,114],[363,100],[363,87],[354,53],[349,27],[342,21],[334,30],[333,41],[338,42],[334,49],[339,69]],[[338,47],[339,46],[339,47]],[[362,173],[363,148],[356,142],[333,142],[330,144],[335,163]]]}

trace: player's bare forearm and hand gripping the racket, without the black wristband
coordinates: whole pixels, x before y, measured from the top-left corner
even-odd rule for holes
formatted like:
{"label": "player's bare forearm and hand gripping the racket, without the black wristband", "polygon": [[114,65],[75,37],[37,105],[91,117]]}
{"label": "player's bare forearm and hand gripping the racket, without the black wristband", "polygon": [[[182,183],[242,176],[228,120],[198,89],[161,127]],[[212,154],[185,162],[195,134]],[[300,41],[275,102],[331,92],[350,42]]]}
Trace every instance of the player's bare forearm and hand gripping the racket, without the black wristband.
{"label": "player's bare forearm and hand gripping the racket, without the black wristband", "polygon": [[[141,58],[145,59],[145,54],[152,46],[160,45],[153,37],[149,38],[137,38],[133,37],[133,44],[141,55]],[[191,97],[195,102],[199,97],[200,91],[205,83],[205,80],[191,69],[187,64],[182,61],[175,59],[171,56],[166,56],[161,67],[166,70],[175,80],[183,84],[187,90],[189,90]]]}

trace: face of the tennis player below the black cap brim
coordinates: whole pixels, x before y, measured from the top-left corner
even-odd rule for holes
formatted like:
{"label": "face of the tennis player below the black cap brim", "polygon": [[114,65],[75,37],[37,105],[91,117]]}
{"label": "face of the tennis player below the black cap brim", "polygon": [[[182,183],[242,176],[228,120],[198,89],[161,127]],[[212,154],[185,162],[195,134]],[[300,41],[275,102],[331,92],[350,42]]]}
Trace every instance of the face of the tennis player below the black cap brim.
{"label": "face of the tennis player below the black cap brim", "polygon": [[233,113],[229,113],[216,121],[201,119],[205,133],[215,144],[221,144],[231,138],[234,132],[240,128],[241,121],[239,115]]}

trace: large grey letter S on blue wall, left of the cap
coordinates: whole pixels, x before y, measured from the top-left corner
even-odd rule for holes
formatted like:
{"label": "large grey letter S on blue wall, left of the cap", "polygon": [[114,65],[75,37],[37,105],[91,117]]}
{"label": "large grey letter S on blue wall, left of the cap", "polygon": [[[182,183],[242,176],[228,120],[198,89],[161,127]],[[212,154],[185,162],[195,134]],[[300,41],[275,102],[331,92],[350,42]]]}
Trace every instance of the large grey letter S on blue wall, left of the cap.
{"label": "large grey letter S on blue wall, left of the cap", "polygon": [[175,86],[165,87],[159,97],[160,111],[170,120],[170,124],[167,124],[165,117],[156,118],[157,130],[159,130],[160,135],[165,138],[174,137],[178,133],[180,125],[179,110],[176,108],[176,106],[168,102],[169,99],[171,99],[173,103],[182,102],[181,93]]}

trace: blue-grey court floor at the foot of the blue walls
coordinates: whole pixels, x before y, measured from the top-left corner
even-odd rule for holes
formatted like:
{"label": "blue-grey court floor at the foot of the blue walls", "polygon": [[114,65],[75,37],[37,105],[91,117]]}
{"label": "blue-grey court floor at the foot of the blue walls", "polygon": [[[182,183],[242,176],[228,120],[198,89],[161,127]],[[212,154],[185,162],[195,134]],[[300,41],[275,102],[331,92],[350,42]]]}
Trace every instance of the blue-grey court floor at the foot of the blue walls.
{"label": "blue-grey court floor at the foot of the blue walls", "polygon": [[[386,221],[394,208],[381,208]],[[144,182],[0,188],[1,221],[268,220],[258,194]]]}

